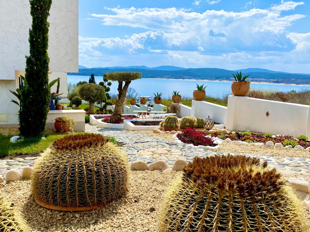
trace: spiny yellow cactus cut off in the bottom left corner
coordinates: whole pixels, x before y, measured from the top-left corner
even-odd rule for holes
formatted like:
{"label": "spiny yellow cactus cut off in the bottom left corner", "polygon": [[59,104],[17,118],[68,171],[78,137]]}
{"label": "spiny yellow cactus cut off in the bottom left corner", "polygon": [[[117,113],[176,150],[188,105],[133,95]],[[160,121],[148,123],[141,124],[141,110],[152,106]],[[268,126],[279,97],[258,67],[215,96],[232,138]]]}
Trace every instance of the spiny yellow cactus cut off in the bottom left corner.
{"label": "spiny yellow cactus cut off in the bottom left corner", "polygon": [[29,228],[21,213],[16,211],[11,203],[0,196],[0,231],[27,232]]}

